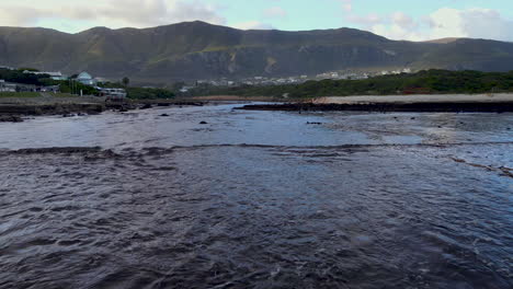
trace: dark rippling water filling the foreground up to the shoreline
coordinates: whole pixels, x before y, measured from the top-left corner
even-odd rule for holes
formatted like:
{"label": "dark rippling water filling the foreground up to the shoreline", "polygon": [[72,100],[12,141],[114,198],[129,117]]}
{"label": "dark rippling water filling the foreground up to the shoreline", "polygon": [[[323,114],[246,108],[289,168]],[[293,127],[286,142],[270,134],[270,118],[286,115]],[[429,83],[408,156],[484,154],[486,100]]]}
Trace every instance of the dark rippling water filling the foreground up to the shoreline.
{"label": "dark rippling water filling the foreground up to the shoreline", "polygon": [[0,124],[0,288],[512,288],[513,114],[236,106]]}

